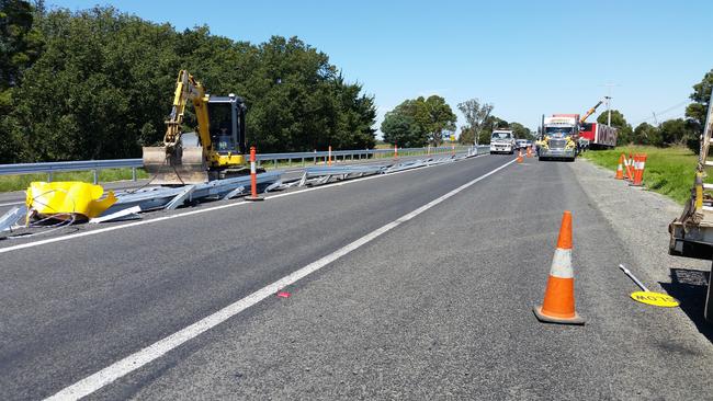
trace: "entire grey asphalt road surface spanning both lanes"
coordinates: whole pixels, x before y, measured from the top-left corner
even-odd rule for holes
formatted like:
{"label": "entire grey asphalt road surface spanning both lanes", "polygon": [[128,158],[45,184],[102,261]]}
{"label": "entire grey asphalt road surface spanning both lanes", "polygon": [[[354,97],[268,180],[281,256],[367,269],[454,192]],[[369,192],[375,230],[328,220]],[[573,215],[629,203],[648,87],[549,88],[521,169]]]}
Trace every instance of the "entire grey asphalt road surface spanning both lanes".
{"label": "entire grey asphalt road surface spanning both lanes", "polygon": [[[711,399],[711,342],[678,324],[680,309],[629,298],[636,288],[616,265],[636,250],[570,164],[511,162],[485,156],[57,242],[0,241],[3,399],[92,386],[100,400]],[[532,313],[565,209],[584,326]],[[191,326],[305,267],[290,297]],[[180,345],[151,354],[177,332]],[[82,381],[97,373],[111,379]]]}

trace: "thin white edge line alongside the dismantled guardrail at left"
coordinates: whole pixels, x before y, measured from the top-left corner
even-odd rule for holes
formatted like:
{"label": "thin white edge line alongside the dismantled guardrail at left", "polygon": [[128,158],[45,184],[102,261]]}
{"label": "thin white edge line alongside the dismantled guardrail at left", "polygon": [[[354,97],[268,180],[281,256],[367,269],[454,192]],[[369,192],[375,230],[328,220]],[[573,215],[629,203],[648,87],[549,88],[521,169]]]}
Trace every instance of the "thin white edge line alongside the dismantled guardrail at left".
{"label": "thin white edge line alongside the dismantled guardrail at left", "polygon": [[[468,160],[468,159],[464,159],[464,160]],[[429,168],[433,168],[433,167],[437,167],[437,165],[445,165],[445,164],[427,165],[427,167],[419,168],[419,169],[397,171],[395,173],[388,173],[388,174],[383,174],[383,175],[370,175],[370,176],[365,176],[365,177],[361,177],[361,179],[353,179],[353,180],[350,180],[350,181],[344,181],[344,182],[341,182],[339,184],[340,185],[353,184],[353,183],[363,182],[363,181],[367,181],[367,180],[386,177],[386,176],[391,176],[391,175],[396,175],[396,174],[401,174],[401,173],[408,173],[408,172],[419,171],[419,170],[423,170],[423,169],[429,169]],[[286,192],[286,193],[283,193],[283,194],[276,194],[276,195],[268,196],[264,199],[268,200],[268,199],[279,198],[279,197],[283,197],[283,196],[292,196],[292,195],[303,194],[303,193],[307,193],[307,192],[312,192],[312,191],[326,190],[326,188],[330,188],[330,187],[335,187],[335,186],[336,186],[335,184],[322,185],[322,186],[313,186],[310,188],[305,188],[305,190],[301,190],[301,191]],[[250,202],[241,200],[241,202],[237,202],[237,203],[234,203],[234,204],[212,206],[212,207],[201,208],[201,209],[196,209],[196,210],[179,213],[179,214],[176,214],[176,215],[157,217],[157,218],[149,219],[149,220],[134,221],[134,222],[128,222],[128,224],[125,224],[125,225],[105,227],[105,228],[100,228],[100,229],[95,229],[95,230],[91,230],[91,231],[83,231],[83,232],[78,232],[78,233],[73,233],[73,234],[68,234],[68,236],[64,236],[64,237],[55,237],[55,238],[48,238],[48,239],[39,240],[39,241],[20,243],[20,244],[12,245],[12,247],[0,248],[0,254],[12,252],[12,251],[18,251],[18,250],[21,250],[21,249],[39,247],[39,245],[44,245],[44,244],[47,244],[47,243],[68,241],[68,240],[72,240],[75,238],[95,236],[95,234],[100,234],[100,233],[104,233],[104,232],[121,230],[121,229],[124,229],[124,228],[150,225],[150,224],[154,224],[154,222],[166,221],[166,220],[170,220],[170,219],[174,219],[174,218],[179,218],[179,217],[185,217],[185,216],[192,216],[192,215],[197,215],[197,214],[213,211],[213,210],[225,209],[225,208],[228,208],[228,207],[240,206],[240,205],[245,205],[245,204],[249,204],[249,203]]]}

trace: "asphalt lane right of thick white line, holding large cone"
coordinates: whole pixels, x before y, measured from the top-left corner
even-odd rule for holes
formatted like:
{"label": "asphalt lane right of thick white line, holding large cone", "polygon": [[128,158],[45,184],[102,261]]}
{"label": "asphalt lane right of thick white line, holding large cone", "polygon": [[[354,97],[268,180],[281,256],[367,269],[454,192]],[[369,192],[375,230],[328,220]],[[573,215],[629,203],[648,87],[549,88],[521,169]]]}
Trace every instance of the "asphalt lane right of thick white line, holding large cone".
{"label": "asphalt lane right of thick white line, holding large cone", "polygon": [[[91,399],[710,399],[711,342],[630,299],[619,263],[656,280],[573,173],[511,165]],[[564,209],[585,326],[532,314]]]}

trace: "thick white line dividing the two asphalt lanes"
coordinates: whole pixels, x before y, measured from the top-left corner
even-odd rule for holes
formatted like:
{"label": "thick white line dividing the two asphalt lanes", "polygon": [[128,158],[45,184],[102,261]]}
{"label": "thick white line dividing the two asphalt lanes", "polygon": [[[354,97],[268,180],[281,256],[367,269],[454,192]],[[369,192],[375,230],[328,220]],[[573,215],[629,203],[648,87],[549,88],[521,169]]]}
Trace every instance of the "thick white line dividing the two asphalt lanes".
{"label": "thick white line dividing the two asphalt lanes", "polygon": [[337,251],[299,268],[298,271],[250,294],[249,296],[228,305],[227,307],[218,310],[217,312],[210,314],[197,322],[167,336],[162,340],[157,341],[156,343],[121,359],[114,364],[99,370],[98,373],[77,381],[76,383],[64,388],[56,394],[47,398],[47,400],[78,400],[82,397],[87,397],[92,392],[101,389],[102,387],[113,382],[116,379],[120,379],[132,371],[151,363],[155,359],[158,359],[166,353],[177,348],[181,344],[185,343],[189,340],[192,340],[205,331],[223,323],[224,321],[233,318],[234,316],[240,313],[241,311],[250,308],[251,306],[260,302],[267,297],[278,293],[280,289],[294,284],[301,278],[306,277],[307,275],[320,270],[321,267],[328,265],[329,263],[338,260],[339,257],[363,247],[364,244],[373,241],[375,238],[381,234],[391,231],[392,229],[398,227],[400,224],[406,222],[416,216],[422,214],[423,211],[432,208],[433,206],[442,203],[443,200],[452,197],[453,195],[460,193],[461,191],[474,185],[475,183],[495,174],[496,172],[505,169],[506,167],[512,164],[514,160],[500,165],[499,168],[478,176],[477,179],[469,181],[457,188],[446,193],[445,195],[429,202],[428,204],[419,207],[418,209],[406,214],[398,219],[382,226],[381,228],[365,234],[364,237],[358,239],[354,242],[349,243],[348,245],[338,249]]}

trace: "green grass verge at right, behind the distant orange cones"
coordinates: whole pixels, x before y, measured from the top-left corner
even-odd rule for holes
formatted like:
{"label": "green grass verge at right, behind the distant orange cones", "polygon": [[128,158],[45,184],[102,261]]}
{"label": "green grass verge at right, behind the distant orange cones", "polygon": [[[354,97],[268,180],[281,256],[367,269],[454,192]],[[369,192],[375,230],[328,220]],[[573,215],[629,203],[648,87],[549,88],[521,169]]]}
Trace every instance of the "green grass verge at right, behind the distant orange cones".
{"label": "green grass verge at right, behind the distant orange cones", "polygon": [[[656,148],[650,146],[625,146],[611,150],[590,150],[582,156],[609,170],[616,171],[621,153],[646,153],[644,185],[664,194],[679,204],[691,196],[698,156],[686,147]],[[711,182],[711,177],[705,182]]]}

